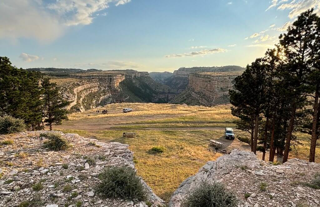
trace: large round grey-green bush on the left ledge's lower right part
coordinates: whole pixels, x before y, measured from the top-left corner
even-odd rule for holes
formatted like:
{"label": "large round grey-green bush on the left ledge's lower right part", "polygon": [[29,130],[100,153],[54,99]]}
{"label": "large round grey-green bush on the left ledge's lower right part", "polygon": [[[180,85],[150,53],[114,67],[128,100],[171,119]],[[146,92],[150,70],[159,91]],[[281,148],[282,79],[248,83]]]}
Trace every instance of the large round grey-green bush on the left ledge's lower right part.
{"label": "large round grey-green bush on the left ledge's lower right part", "polygon": [[141,178],[130,167],[108,167],[99,174],[97,192],[105,198],[145,200],[147,192]]}

